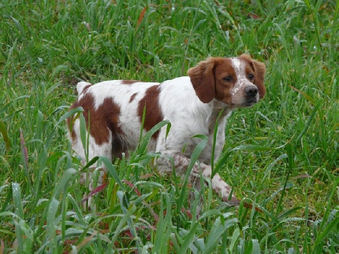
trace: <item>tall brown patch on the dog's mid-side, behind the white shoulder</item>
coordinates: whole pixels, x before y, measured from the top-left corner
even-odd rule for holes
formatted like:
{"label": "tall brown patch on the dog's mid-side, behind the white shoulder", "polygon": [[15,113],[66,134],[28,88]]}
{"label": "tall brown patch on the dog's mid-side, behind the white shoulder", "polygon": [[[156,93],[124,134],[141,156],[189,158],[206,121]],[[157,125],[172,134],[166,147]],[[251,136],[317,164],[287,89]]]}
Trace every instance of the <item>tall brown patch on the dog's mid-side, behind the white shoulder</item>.
{"label": "tall brown patch on the dog's mid-side, behind the white shoulder", "polygon": [[[146,105],[144,129],[149,131],[155,124],[162,121],[163,116],[159,107],[159,85],[152,86],[146,90],[145,97],[139,101],[138,115],[142,122],[144,107]],[[157,139],[159,132],[154,133],[153,138]]]}

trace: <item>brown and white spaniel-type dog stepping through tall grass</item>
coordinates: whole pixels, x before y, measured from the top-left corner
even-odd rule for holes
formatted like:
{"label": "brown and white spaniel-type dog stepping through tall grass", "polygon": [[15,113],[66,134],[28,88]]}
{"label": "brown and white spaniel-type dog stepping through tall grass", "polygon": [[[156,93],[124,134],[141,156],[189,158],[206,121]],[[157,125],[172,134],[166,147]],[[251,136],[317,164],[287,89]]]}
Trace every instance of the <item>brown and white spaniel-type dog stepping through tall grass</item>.
{"label": "brown and white spaniel-type dog stepping through tall grass", "polygon": [[[160,152],[156,160],[160,173],[184,176],[195,146],[201,141],[195,135],[208,137],[207,145],[189,174],[189,183],[199,190],[200,175],[211,177],[211,153],[214,129],[219,113],[215,142],[216,162],[225,144],[225,125],[233,109],[251,107],[264,98],[266,67],[248,55],[239,57],[208,57],[188,70],[188,76],[158,82],[138,80],[110,80],[92,85],[79,82],[78,99],[71,109],[81,106],[89,133],[88,158],[106,156],[121,158],[138,146],[144,108],[144,133],[158,122],[167,119],[171,129],[166,136],[166,126],[156,132],[148,150]],[[79,119],[67,119],[68,137],[72,149],[86,164],[80,139]],[[172,159],[169,159],[171,157]],[[98,184],[103,181],[100,172]],[[92,180],[91,180],[92,183]],[[90,190],[93,186],[90,183]],[[210,179],[211,188],[223,201],[236,200],[231,187],[216,174]]]}

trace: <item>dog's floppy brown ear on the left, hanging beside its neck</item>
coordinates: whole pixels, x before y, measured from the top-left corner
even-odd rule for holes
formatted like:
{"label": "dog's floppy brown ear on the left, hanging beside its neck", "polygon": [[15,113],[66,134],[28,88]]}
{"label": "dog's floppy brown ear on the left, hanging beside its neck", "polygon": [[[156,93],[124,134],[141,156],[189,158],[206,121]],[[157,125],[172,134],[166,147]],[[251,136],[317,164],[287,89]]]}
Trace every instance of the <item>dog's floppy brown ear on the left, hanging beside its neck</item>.
{"label": "dog's floppy brown ear on the left, hanging beside its neck", "polygon": [[213,100],[216,94],[215,77],[213,73],[214,66],[215,62],[213,58],[207,58],[195,67],[190,68],[187,72],[191,78],[196,95],[203,103],[208,103]]}

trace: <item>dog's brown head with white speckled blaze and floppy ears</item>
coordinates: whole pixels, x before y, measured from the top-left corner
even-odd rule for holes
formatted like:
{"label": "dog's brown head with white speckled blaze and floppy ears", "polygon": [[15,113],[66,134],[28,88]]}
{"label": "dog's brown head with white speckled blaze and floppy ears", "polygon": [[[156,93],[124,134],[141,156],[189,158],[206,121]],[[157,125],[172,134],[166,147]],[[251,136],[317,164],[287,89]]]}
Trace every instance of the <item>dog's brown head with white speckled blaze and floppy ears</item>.
{"label": "dog's brown head with white speckled blaze and floppy ears", "polygon": [[214,98],[232,107],[250,107],[264,98],[265,64],[248,55],[209,57],[188,70],[200,101]]}

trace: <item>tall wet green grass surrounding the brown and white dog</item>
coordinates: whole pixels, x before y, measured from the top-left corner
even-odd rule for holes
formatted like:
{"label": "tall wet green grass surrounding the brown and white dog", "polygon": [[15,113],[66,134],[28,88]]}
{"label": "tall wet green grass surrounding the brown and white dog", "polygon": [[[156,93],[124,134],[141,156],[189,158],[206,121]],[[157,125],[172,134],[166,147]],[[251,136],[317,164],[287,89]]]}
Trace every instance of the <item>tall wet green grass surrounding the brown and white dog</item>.
{"label": "tall wet green grass surrounding the brown and white dog", "polygon": [[[2,1],[0,253],[338,253],[338,10],[338,0]],[[76,80],[162,81],[242,53],[266,63],[267,95],[233,112],[219,165],[252,209],[206,187],[191,217],[187,186],[159,176],[143,149],[103,159],[107,185],[83,208],[78,170],[93,162],[73,157],[65,124]]]}

